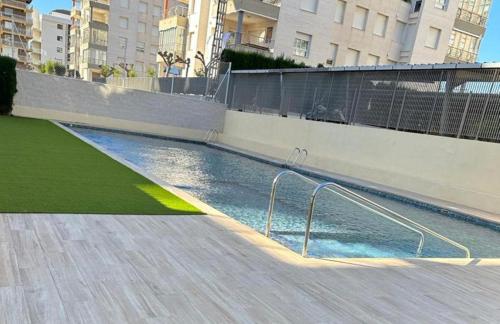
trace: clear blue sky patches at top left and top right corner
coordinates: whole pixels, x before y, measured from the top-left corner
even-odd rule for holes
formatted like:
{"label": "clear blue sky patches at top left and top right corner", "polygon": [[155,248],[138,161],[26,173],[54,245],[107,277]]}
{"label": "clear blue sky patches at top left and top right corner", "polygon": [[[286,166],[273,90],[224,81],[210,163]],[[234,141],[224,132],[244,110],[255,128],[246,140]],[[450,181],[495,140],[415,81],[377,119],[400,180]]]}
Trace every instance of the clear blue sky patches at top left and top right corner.
{"label": "clear blue sky patches at top left and top right corner", "polygon": [[[71,9],[71,0],[34,0],[32,5],[43,13],[53,9]],[[479,62],[500,62],[500,0],[493,1],[486,35],[481,43]]]}

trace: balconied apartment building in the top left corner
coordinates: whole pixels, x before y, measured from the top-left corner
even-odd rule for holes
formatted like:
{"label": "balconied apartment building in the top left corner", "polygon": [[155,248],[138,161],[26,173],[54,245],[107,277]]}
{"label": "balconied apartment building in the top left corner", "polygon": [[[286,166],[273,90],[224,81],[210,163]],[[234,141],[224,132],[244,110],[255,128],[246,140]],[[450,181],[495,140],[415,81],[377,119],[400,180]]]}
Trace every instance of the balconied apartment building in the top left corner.
{"label": "balconied apartment building in the top left corner", "polygon": [[29,66],[28,41],[31,33],[31,0],[0,0],[0,55]]}

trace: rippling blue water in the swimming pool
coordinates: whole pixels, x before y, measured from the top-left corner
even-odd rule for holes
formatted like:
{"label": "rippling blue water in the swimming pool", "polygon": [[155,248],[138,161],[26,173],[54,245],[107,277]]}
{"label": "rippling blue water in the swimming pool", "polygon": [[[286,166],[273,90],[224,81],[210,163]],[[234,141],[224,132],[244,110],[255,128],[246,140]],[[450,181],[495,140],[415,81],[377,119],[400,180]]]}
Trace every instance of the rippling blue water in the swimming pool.
{"label": "rippling blue water in the swimming pool", "polygon": [[[73,128],[84,137],[179,187],[238,221],[264,232],[271,184],[280,168],[205,145]],[[288,177],[278,187],[273,238],[300,252],[313,186]],[[410,203],[361,190],[372,199],[467,246],[473,257],[500,257],[500,232]],[[322,192],[309,254],[317,257],[415,257],[419,236],[373,212]],[[426,235],[423,257],[463,257],[463,251]]]}

